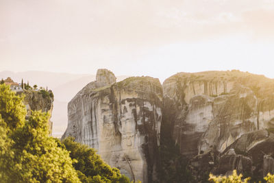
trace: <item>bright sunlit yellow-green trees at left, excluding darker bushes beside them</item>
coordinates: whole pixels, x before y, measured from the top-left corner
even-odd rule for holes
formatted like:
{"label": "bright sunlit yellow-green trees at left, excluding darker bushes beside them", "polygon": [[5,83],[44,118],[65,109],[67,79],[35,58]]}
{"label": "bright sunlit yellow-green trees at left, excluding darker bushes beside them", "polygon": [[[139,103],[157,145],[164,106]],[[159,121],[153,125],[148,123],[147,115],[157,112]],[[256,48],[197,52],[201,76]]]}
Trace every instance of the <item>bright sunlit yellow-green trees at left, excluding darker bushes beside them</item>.
{"label": "bright sunlit yellow-green trees at left, excluding darker bushes beside them", "polygon": [[1,182],[79,182],[69,151],[48,136],[49,114],[32,111],[23,98],[0,86]]}

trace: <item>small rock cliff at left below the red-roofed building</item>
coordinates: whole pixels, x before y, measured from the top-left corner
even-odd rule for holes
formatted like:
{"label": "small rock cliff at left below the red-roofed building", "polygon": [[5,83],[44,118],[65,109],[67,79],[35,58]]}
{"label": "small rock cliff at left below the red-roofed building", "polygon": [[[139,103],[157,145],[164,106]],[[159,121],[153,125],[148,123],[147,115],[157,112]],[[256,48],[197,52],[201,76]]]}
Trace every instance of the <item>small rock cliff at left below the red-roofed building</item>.
{"label": "small rock cliff at left below the red-roofed building", "polygon": [[[44,93],[41,91],[35,90],[23,90],[18,94],[23,93],[25,95],[24,104],[27,108],[27,115],[31,113],[31,110],[41,110],[42,112],[52,113],[53,110],[53,95],[49,96],[51,90],[49,92],[45,91]],[[49,120],[49,134],[52,134],[52,125],[53,123]]]}

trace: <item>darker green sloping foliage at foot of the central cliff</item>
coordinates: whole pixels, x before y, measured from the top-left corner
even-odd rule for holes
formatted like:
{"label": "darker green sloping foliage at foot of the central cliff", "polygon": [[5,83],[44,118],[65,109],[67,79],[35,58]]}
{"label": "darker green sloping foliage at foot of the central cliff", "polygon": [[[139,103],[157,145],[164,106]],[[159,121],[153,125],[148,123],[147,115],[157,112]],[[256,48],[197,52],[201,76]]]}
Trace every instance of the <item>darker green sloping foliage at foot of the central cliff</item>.
{"label": "darker green sloping foliage at foot of the central cliff", "polygon": [[77,160],[73,163],[73,167],[78,171],[82,182],[129,182],[128,178],[121,175],[119,169],[112,168],[103,162],[94,149],[76,143],[72,137],[64,139],[62,143],[71,152],[71,158]]}

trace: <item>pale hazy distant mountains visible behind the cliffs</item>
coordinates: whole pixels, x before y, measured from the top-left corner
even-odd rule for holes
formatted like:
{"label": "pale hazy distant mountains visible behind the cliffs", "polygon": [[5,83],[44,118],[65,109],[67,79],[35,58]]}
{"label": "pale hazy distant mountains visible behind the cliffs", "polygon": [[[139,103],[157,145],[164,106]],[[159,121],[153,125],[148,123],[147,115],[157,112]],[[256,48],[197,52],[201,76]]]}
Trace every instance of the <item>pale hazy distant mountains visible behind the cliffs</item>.
{"label": "pale hazy distant mountains visible behind the cliffs", "polygon": [[[29,82],[31,86],[48,87],[53,91],[54,102],[51,121],[53,121],[53,136],[62,136],[68,123],[67,103],[84,88],[86,84],[95,81],[95,75],[52,73],[45,71],[25,71],[14,73],[12,71],[1,71],[1,78],[12,77],[14,82]],[[117,81],[124,80],[129,76],[116,76]]]}

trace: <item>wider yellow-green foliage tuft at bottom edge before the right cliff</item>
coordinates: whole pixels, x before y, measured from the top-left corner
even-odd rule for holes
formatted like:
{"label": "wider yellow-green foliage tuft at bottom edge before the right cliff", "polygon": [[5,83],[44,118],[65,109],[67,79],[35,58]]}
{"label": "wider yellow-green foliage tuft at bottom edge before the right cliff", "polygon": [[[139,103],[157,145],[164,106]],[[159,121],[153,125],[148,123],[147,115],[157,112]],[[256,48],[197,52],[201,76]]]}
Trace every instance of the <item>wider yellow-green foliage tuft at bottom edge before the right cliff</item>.
{"label": "wider yellow-green foliage tuft at bottom edge before the right cliff", "polygon": [[216,177],[210,173],[210,178],[208,179],[210,182],[215,183],[247,183],[249,182],[250,178],[245,178],[242,180],[242,174],[238,175],[237,171],[234,170],[232,175],[227,176],[219,176]]}

